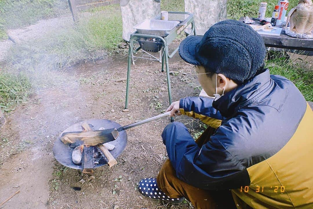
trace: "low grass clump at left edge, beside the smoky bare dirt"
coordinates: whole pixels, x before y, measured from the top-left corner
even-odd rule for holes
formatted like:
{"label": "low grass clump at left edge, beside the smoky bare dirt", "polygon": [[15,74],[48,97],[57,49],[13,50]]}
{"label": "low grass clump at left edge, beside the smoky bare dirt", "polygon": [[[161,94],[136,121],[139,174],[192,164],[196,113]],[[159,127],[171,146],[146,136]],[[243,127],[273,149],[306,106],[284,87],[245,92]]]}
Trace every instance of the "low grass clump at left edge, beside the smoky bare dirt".
{"label": "low grass clump at left edge, beside the smoky bare dirt", "polygon": [[0,71],[0,107],[3,111],[10,112],[26,102],[30,93],[31,84],[25,74]]}

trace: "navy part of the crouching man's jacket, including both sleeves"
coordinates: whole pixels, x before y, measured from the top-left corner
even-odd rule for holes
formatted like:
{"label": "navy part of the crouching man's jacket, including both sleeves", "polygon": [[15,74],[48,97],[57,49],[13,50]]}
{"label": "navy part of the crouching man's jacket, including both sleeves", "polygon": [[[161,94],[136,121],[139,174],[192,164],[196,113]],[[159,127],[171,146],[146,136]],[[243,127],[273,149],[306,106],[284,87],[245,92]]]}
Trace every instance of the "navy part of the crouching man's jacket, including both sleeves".
{"label": "navy part of the crouching man's jacket, including both sleeves", "polygon": [[217,128],[201,148],[181,123],[164,129],[163,143],[180,180],[206,190],[240,188],[250,184],[249,167],[270,158],[290,140],[306,105],[291,81],[266,70],[216,101],[180,100],[182,113]]}

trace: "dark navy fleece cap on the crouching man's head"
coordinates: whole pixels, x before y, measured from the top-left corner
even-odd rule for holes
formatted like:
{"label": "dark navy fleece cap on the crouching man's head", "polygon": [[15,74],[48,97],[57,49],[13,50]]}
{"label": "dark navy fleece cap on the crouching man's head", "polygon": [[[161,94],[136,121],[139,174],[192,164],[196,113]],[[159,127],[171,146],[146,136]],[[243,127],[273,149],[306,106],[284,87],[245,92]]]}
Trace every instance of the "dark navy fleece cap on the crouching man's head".
{"label": "dark navy fleece cap on the crouching man's head", "polygon": [[202,65],[207,71],[244,82],[264,65],[265,45],[249,25],[225,20],[211,26],[203,37],[184,39],[179,55],[192,65]]}

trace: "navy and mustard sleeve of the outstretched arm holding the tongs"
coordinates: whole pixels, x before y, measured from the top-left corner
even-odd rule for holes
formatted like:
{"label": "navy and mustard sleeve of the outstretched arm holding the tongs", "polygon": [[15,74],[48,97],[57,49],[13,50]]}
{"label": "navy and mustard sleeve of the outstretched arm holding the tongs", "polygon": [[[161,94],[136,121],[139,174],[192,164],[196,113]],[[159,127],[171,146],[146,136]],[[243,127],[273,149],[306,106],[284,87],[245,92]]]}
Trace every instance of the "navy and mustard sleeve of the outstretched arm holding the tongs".
{"label": "navy and mustard sleeve of the outstretched arm holding the tongs", "polygon": [[182,114],[193,118],[199,118],[203,123],[218,128],[223,116],[212,107],[213,98],[186,97],[179,101],[179,110]]}

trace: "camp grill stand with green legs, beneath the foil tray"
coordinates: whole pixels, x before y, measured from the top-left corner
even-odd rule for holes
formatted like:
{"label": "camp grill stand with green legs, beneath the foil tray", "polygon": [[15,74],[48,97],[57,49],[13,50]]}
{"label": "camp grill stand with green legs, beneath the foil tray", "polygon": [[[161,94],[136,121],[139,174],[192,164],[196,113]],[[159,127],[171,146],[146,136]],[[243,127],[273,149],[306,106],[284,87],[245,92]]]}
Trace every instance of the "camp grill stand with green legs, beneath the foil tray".
{"label": "camp grill stand with green legs, beneath the foil tray", "polygon": [[[154,19],[160,19],[161,14],[156,16]],[[161,61],[162,56],[162,72],[164,72],[164,61],[165,61],[165,67],[166,67],[166,76],[167,76],[167,88],[168,88],[168,97],[170,104],[172,103],[172,93],[171,93],[171,81],[170,81],[170,73],[168,68],[168,59],[172,58],[176,52],[178,51],[177,47],[171,54],[169,54],[168,51],[168,45],[182,32],[184,29],[191,24],[191,35],[192,33],[196,35],[196,32],[194,30],[194,20],[193,20],[193,14],[188,12],[168,12],[168,20],[171,21],[179,21],[180,23],[177,24],[176,28],[173,29],[166,37],[161,37],[158,35],[149,35],[149,34],[139,34],[138,31],[131,34],[130,40],[129,40],[129,50],[128,50],[128,66],[127,66],[127,84],[126,84],[126,102],[125,102],[125,109],[128,108],[128,96],[129,96],[129,82],[130,82],[130,75],[131,75],[131,60],[136,58],[142,58],[142,59],[148,59],[148,60],[157,60]],[[188,35],[188,36],[189,36]],[[134,40],[138,40],[140,38],[152,38],[156,40],[161,40],[161,42],[151,42],[150,44],[162,44],[161,51],[160,51],[160,57],[156,58],[155,56],[151,55],[150,53],[146,52],[146,50],[142,49],[142,43],[138,48],[134,48]],[[158,46],[156,46],[158,47]],[[143,50],[144,53],[147,55],[142,55],[141,57],[135,56],[136,53],[139,50]],[[134,61],[133,61],[133,64]],[[171,122],[173,122],[174,119],[171,117]]]}

